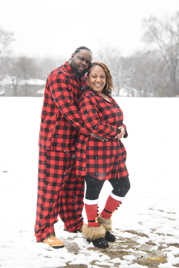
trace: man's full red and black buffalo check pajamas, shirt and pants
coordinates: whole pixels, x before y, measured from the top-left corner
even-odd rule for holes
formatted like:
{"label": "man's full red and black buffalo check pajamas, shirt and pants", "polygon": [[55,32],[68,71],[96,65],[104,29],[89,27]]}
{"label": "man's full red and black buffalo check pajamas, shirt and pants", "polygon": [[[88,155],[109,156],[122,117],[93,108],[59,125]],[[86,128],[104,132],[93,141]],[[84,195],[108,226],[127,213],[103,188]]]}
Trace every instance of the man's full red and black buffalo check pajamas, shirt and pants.
{"label": "man's full red and black buffalo check pajamas, shirt and pants", "polygon": [[39,134],[38,242],[54,233],[58,215],[70,232],[83,224],[84,180],[76,178],[75,143],[79,132],[90,133],[77,109],[86,88],[86,77],[79,81],[67,62],[47,78]]}

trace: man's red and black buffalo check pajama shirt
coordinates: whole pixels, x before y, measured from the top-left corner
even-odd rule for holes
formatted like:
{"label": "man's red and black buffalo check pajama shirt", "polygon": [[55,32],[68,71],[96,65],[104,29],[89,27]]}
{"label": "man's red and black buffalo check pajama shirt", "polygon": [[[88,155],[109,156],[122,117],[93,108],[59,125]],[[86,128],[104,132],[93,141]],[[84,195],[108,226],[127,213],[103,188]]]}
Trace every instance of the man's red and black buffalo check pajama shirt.
{"label": "man's red and black buffalo check pajama shirt", "polygon": [[79,81],[68,62],[49,74],[41,114],[39,147],[45,150],[75,150],[79,132],[90,134],[77,109],[79,98],[86,88],[86,77]]}

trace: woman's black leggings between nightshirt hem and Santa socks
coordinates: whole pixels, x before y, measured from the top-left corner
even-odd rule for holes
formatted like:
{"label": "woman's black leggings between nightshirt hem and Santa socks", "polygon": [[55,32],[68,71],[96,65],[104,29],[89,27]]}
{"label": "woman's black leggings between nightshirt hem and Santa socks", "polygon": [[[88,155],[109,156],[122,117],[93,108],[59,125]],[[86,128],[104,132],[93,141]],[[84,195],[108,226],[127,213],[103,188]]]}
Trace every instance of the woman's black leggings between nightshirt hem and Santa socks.
{"label": "woman's black leggings between nightshirt hem and Santa socks", "polygon": [[[98,199],[105,181],[99,180],[89,175],[85,175],[84,178],[86,182],[85,198],[89,200]],[[111,183],[113,187],[112,193],[114,193],[114,195],[124,197],[130,189],[130,181],[129,181],[128,176],[125,178],[120,178],[116,180],[111,179],[109,180],[109,182]]]}

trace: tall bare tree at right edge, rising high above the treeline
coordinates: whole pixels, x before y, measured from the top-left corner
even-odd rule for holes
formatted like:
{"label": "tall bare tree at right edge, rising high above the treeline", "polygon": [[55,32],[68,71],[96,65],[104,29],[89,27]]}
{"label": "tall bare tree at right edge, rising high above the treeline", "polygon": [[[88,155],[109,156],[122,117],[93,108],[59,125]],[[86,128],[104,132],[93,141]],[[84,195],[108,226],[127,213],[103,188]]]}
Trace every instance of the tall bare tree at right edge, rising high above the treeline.
{"label": "tall bare tree at right edge, rising high above the treeline", "polygon": [[158,47],[163,59],[164,69],[169,72],[171,83],[170,96],[179,94],[178,86],[178,60],[179,60],[179,12],[172,17],[158,19],[151,16],[143,20],[145,28],[144,41],[155,44]]}

